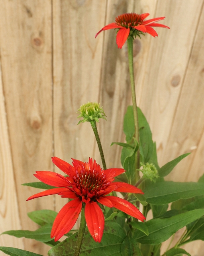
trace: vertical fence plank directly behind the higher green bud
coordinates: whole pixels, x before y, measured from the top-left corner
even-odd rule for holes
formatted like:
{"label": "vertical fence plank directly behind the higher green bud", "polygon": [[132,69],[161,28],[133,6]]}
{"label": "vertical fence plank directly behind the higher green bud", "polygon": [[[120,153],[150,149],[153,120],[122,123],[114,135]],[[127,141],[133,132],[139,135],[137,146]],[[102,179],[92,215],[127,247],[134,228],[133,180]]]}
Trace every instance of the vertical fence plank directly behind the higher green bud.
{"label": "vertical fence plank directly behind the higher green bud", "polygon": [[[77,126],[77,109],[98,101],[103,38],[94,36],[105,10],[106,1],[53,1],[54,154],[69,163],[89,157],[100,162],[90,124]],[[56,210],[66,202],[56,196]]]}

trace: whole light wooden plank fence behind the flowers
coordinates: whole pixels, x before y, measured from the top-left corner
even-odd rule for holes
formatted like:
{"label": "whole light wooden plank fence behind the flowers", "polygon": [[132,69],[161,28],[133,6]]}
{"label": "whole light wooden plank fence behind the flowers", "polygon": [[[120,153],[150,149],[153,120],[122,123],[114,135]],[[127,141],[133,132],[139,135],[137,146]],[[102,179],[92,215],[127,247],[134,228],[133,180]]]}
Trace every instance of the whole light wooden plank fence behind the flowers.
{"label": "whole light wooden plank fence behind the flowers", "polygon": [[[107,116],[98,130],[107,168],[121,167],[123,119],[131,104],[127,45],[118,49],[116,31],[94,38],[104,25],[126,12],[171,29],[155,28],[134,40],[137,103],[157,143],[159,165],[186,152],[166,177],[197,181],[204,173],[204,1],[203,0],[1,0],[0,8],[0,233],[35,230],[27,212],[59,211],[66,200],[21,186],[35,182],[37,170],[60,172],[57,156],[100,163],[88,122],[77,126],[77,109],[98,101]],[[0,236],[0,246],[47,255],[36,241]],[[184,248],[203,256],[204,242]],[[1,254],[0,255],[5,255]]]}

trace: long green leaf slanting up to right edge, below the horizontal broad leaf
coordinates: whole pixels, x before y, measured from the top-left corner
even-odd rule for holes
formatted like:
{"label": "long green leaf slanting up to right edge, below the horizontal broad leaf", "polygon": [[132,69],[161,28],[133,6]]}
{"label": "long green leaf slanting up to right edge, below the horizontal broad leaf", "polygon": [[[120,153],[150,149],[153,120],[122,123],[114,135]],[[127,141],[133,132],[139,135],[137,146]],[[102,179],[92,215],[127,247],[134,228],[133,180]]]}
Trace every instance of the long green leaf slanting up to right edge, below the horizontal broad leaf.
{"label": "long green leaf slanting up to right edge, below the horizontal broad leaf", "polygon": [[170,236],[180,228],[199,219],[204,215],[204,209],[184,212],[171,218],[156,218],[145,222],[149,230],[149,236],[146,236],[140,230],[136,230],[133,238],[141,244],[160,244],[166,241]]}

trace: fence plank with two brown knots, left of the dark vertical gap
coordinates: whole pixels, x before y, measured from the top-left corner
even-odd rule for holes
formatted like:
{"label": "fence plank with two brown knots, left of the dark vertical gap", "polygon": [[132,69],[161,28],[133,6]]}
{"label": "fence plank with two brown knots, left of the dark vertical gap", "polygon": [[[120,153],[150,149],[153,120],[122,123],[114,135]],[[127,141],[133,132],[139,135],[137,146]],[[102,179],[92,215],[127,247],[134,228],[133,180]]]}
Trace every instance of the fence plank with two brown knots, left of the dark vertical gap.
{"label": "fence plank with two brown knots, left of the dark vertical gap", "polygon": [[[0,50],[14,178],[22,229],[35,230],[27,212],[53,209],[53,196],[26,199],[39,190],[20,186],[51,170],[51,1],[2,1]],[[25,249],[47,254],[48,246],[25,240]]]}

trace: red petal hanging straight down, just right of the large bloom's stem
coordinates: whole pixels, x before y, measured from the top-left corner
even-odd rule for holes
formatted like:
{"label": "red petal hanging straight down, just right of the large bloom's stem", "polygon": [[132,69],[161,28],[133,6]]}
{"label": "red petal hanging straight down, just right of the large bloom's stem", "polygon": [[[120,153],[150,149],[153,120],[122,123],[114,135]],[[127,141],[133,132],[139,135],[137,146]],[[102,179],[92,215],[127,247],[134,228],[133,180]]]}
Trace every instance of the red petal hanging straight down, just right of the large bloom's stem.
{"label": "red petal hanging straight down, just right of the large bloom's stem", "polygon": [[96,202],[85,206],[85,218],[88,230],[96,242],[101,241],[104,232],[104,214]]}

